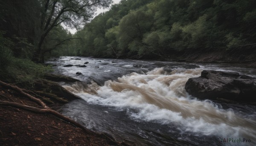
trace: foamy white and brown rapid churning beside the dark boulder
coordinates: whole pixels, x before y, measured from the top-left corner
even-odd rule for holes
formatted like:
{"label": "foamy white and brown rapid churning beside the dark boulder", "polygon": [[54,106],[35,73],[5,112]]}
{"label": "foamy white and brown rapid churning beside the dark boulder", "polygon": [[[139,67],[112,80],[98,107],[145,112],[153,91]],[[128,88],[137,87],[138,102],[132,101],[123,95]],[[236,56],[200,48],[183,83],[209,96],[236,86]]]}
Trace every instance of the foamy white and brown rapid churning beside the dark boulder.
{"label": "foamy white and brown rapid churning beside the dark boulder", "polygon": [[147,74],[131,73],[118,81],[107,81],[104,86],[92,83],[86,88],[76,84],[64,88],[91,104],[133,109],[128,115],[134,120],[175,124],[181,133],[256,139],[255,121],[186,93],[186,81],[200,76],[201,71],[176,69],[169,73],[156,68]]}

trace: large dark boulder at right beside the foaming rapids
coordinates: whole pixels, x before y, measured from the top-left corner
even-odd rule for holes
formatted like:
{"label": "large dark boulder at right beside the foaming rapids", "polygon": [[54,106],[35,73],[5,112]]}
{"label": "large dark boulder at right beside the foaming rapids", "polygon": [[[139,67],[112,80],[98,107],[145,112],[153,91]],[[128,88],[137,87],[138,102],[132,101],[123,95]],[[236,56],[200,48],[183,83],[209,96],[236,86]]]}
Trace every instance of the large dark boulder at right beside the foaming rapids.
{"label": "large dark boulder at right beside the foaming rapids", "polygon": [[256,101],[256,78],[238,72],[204,70],[201,77],[189,78],[185,89],[199,99]]}

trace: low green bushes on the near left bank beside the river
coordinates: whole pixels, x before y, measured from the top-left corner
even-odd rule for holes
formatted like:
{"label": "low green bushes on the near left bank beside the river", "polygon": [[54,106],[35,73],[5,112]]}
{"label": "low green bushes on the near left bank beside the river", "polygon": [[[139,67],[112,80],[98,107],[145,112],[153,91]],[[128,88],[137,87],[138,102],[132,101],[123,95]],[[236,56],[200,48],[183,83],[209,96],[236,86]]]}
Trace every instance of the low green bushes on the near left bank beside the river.
{"label": "low green bushes on the near left bank beside the river", "polygon": [[[9,38],[3,37],[5,32],[0,31],[0,80],[6,82],[30,82],[38,77],[43,77],[50,72],[50,66],[36,64],[29,59],[13,57],[13,50],[17,44],[22,44],[23,48],[31,46],[21,38],[16,37],[17,44]],[[21,49],[23,49],[21,48]]]}

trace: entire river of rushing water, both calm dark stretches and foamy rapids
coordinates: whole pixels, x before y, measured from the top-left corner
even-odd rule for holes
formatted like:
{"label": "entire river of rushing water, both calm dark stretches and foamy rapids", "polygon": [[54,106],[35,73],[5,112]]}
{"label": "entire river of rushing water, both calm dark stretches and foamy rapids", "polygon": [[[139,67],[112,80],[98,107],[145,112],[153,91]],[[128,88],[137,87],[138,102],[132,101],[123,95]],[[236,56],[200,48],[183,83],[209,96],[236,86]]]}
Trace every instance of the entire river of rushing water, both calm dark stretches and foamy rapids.
{"label": "entire river of rushing water, both calm dark stretches and foamy rapids", "polygon": [[[253,76],[256,69],[227,64],[71,58],[48,63],[57,65],[56,74],[87,83],[61,83],[81,97],[64,105],[61,113],[88,129],[106,132],[119,141],[133,141],[137,146],[256,144],[256,106],[198,100],[184,89],[186,81],[199,77],[204,69]],[[85,62],[89,62],[85,68],[63,67]],[[228,143],[224,143],[226,138]]]}

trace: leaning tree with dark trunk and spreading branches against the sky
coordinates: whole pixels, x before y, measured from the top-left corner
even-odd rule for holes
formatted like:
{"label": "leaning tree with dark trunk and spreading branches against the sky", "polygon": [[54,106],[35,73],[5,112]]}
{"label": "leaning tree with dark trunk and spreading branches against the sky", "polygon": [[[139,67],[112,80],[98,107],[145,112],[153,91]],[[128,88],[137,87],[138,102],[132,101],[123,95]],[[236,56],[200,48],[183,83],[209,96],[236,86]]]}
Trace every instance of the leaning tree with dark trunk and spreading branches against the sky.
{"label": "leaning tree with dark trunk and spreading branches against the sky", "polygon": [[58,25],[64,24],[70,28],[79,29],[92,17],[97,8],[107,8],[112,0],[39,0],[40,23],[36,49],[32,60],[44,61],[43,44],[49,32]]}

